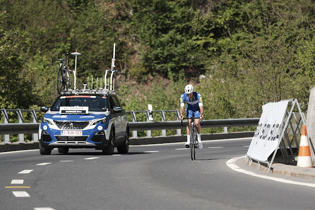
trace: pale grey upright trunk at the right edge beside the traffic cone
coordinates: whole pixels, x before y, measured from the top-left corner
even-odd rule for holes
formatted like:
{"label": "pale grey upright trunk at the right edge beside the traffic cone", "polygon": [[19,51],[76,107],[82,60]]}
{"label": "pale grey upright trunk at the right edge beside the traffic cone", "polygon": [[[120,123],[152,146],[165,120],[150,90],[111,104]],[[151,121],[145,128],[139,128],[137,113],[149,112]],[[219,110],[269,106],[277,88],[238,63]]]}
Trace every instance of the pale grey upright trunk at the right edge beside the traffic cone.
{"label": "pale grey upright trunk at the right edge beside the traffic cone", "polygon": [[315,165],[315,86],[311,89],[306,116],[306,130],[309,137],[313,166]]}

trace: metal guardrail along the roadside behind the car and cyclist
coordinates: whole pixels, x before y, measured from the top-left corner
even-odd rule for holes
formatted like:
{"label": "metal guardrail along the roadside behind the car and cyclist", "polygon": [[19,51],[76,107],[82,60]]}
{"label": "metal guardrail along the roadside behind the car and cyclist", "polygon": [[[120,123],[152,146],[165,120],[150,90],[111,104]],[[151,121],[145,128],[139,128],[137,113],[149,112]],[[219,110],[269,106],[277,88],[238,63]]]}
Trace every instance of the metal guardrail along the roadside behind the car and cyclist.
{"label": "metal guardrail along the roadside behind the car and cyclist", "polygon": [[[10,135],[18,134],[18,143],[25,143],[24,134],[32,134],[32,142],[38,142],[38,128],[39,122],[37,121],[36,112],[38,110],[6,110],[0,109],[2,116],[4,118],[3,122],[0,123],[0,135],[3,135],[4,144],[10,143]],[[7,112],[15,112],[18,115],[18,123],[9,123],[9,117]],[[24,122],[23,113],[32,113],[33,122]],[[137,132],[141,130],[147,131],[147,137],[151,137],[152,130],[161,130],[161,136],[166,136],[166,130],[177,130],[176,135],[181,135],[181,129],[186,128],[186,123],[184,121],[181,125],[180,120],[178,120],[179,110],[160,110],[153,111],[156,118],[157,114],[160,114],[161,121],[149,121],[149,111],[130,111],[127,115],[131,115],[131,120],[129,122],[130,131],[132,131],[132,137],[137,138]],[[165,115],[166,114],[166,115]],[[169,116],[172,114],[172,116]],[[175,115],[174,115],[175,114]],[[142,115],[142,116],[141,116]],[[138,116],[138,118],[137,118]],[[137,121],[137,120],[147,120],[147,121]],[[168,119],[176,119],[169,120]],[[203,120],[202,127],[224,127],[224,132],[227,133],[227,127],[233,126],[254,126],[257,125],[259,118],[248,118],[248,119],[224,119],[224,120]]]}

